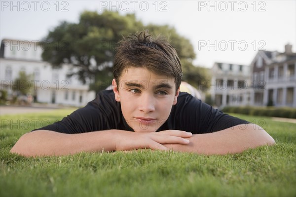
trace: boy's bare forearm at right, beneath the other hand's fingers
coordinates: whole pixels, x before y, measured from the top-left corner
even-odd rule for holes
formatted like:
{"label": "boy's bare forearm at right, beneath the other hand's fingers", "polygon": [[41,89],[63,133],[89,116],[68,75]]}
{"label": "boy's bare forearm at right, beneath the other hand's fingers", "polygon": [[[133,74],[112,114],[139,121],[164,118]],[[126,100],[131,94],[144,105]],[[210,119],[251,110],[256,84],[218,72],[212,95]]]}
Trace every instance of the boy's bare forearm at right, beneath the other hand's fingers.
{"label": "boy's bare forearm at right, beneath the other hand's fingers", "polygon": [[234,126],[222,131],[192,135],[188,145],[166,144],[174,151],[194,152],[206,155],[234,154],[263,145],[273,145],[275,141],[256,124]]}

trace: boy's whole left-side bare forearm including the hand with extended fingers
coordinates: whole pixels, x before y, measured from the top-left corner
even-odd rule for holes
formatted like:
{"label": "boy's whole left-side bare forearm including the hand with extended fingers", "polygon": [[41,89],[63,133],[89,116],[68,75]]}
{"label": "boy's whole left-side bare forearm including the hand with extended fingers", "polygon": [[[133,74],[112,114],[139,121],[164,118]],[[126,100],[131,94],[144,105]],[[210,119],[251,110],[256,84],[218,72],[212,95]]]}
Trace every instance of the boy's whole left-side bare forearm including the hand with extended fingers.
{"label": "boy's whole left-side bare forearm including the hand with extended fingers", "polygon": [[130,132],[124,130],[93,131],[81,134],[64,134],[39,130],[23,135],[11,153],[26,157],[69,155],[79,152],[128,151],[150,148],[168,150],[163,144],[188,144],[184,138],[191,133],[178,130],[161,132]]}

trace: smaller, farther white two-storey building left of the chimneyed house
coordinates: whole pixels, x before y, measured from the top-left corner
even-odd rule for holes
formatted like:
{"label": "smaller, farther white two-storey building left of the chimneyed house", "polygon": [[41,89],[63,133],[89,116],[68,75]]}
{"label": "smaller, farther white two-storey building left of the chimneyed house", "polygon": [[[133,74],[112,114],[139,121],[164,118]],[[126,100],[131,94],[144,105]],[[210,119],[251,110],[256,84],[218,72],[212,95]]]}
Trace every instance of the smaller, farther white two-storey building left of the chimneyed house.
{"label": "smaller, farther white two-storey building left of the chimneyed house", "polygon": [[212,67],[211,98],[218,108],[250,104],[250,67],[214,63]]}

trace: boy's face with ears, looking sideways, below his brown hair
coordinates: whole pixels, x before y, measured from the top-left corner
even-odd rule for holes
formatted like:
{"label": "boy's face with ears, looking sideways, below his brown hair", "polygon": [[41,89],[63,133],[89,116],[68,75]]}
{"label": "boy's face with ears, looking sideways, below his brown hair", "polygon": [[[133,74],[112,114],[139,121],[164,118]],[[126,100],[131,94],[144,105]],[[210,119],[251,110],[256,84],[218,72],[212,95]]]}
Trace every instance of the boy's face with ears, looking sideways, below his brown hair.
{"label": "boy's face with ears, looking sideways, below his brown hair", "polygon": [[135,67],[122,73],[119,84],[113,79],[115,100],[120,102],[123,117],[135,132],[155,132],[167,120],[179,95],[174,81]]}

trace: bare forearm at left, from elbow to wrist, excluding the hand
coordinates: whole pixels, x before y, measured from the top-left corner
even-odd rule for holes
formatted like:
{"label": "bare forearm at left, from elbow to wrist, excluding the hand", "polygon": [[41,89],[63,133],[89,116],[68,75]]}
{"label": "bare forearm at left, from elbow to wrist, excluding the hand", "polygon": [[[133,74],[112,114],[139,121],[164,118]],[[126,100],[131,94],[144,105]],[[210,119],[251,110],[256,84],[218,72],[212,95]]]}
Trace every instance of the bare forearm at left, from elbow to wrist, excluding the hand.
{"label": "bare forearm at left, from elbow to wrist, excluding the hand", "polygon": [[40,130],[23,135],[10,152],[26,157],[35,157],[102,150],[113,151],[115,150],[113,138],[113,130],[80,134],[64,134]]}

